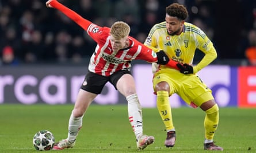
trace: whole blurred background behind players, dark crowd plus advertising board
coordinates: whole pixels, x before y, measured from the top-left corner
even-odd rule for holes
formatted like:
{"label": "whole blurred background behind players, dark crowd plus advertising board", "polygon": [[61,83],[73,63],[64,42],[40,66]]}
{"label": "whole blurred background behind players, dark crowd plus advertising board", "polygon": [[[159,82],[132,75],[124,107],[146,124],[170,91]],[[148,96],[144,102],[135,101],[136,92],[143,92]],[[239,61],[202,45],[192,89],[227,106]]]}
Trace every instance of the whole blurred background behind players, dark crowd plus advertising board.
{"label": "whole blurred background behind players, dark crowd plus advertising board", "polygon": [[[211,38],[217,59],[201,70],[220,107],[256,107],[256,64],[246,50],[256,52],[256,1],[253,0],[59,0],[101,26],[125,21],[131,36],[144,42],[155,23],[164,21],[165,7],[184,4],[188,22]],[[65,15],[42,0],[0,0],[0,104],[74,103],[87,72],[95,42]],[[256,54],[256,53],[255,53]],[[196,52],[194,63],[202,57]],[[133,62],[133,76],[144,107],[155,107],[150,64]],[[145,96],[147,95],[147,96]],[[185,103],[171,97],[174,107]],[[125,104],[106,85],[97,104]]]}

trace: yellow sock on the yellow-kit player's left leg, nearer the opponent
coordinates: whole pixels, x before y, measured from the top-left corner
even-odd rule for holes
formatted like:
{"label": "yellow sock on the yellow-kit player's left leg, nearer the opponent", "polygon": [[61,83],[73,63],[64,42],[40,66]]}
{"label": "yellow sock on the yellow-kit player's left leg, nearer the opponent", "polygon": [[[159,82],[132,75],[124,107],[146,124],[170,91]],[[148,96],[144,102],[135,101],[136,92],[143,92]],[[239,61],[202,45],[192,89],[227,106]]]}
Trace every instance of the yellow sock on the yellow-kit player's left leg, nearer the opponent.
{"label": "yellow sock on the yellow-kit player's left leg, nearer the opponent", "polygon": [[166,130],[174,130],[173,118],[171,117],[171,105],[169,102],[169,93],[167,91],[156,92],[156,106],[159,114],[165,124]]}

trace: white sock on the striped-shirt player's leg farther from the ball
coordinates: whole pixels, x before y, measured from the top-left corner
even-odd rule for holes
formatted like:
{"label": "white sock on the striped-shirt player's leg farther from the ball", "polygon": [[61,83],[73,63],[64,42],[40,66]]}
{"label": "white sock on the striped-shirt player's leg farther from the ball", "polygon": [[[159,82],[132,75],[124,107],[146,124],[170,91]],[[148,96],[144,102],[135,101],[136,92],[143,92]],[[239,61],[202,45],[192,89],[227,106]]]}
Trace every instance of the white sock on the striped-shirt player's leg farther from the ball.
{"label": "white sock on the striped-shirt player's leg farther from the ball", "polygon": [[143,134],[142,126],[142,106],[139,103],[137,94],[132,94],[126,97],[128,101],[129,121],[132,125],[136,139]]}

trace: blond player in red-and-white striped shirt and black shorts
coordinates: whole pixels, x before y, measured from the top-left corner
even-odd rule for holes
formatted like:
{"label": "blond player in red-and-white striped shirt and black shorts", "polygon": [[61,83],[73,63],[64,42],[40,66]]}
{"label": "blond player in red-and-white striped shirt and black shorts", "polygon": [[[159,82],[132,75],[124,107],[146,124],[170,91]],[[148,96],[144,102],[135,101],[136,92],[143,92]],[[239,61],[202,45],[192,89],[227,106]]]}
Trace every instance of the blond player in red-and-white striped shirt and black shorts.
{"label": "blond player in red-and-white striped shirt and black shorts", "polygon": [[89,72],[81,85],[70,116],[68,137],[56,143],[53,149],[63,150],[74,146],[78,131],[82,127],[83,115],[107,82],[114,85],[128,101],[129,121],[136,136],[137,148],[142,150],[148,144],[152,144],[154,137],[143,135],[142,107],[136,94],[135,81],[129,71],[131,61],[140,59],[147,62],[157,62],[176,69],[178,69],[178,62],[169,60],[163,50],[155,53],[154,50],[128,36],[130,27],[125,22],[115,22],[111,28],[101,27],[82,18],[75,11],[68,9],[56,0],[47,1],[46,6],[58,9],[67,15],[97,42],[90,58]]}

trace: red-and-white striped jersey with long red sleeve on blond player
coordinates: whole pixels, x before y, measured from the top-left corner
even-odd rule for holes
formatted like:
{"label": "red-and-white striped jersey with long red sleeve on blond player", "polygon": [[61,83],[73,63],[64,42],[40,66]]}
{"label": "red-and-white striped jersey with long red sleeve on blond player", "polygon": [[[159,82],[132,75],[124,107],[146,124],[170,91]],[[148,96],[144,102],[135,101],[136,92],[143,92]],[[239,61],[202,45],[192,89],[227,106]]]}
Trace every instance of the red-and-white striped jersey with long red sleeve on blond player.
{"label": "red-and-white striped jersey with long red sleeve on blond player", "polygon": [[158,61],[156,53],[153,50],[132,37],[128,37],[129,44],[131,44],[128,48],[114,52],[110,45],[110,28],[102,28],[101,26],[95,25],[58,1],[51,1],[50,4],[86,30],[89,36],[97,42],[94,54],[90,58],[89,70],[91,72],[102,76],[110,76],[118,70],[131,67],[132,60]]}

